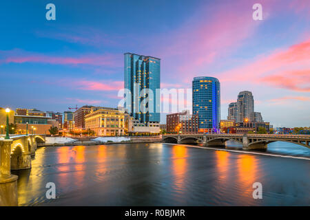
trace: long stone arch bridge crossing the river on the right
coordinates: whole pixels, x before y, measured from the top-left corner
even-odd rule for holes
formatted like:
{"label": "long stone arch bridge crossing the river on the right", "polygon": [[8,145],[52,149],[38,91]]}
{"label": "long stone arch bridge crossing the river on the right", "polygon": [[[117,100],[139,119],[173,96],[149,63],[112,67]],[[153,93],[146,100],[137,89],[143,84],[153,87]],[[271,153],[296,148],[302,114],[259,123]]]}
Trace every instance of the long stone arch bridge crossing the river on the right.
{"label": "long stone arch bridge crossing the river on the right", "polygon": [[260,134],[169,134],[163,135],[163,142],[178,144],[203,144],[204,146],[225,146],[227,140],[242,144],[244,150],[265,149],[271,142],[289,142],[310,148],[310,135],[260,135]]}

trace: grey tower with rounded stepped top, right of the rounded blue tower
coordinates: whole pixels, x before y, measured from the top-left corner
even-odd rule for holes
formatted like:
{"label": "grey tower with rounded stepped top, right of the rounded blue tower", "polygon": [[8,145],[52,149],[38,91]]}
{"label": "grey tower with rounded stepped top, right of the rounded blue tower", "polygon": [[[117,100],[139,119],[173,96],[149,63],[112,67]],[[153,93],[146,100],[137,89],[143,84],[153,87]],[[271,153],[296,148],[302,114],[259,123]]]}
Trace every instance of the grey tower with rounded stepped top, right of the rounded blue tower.
{"label": "grey tower with rounded stepped top, right of the rounded blue tower", "polygon": [[238,116],[237,122],[243,122],[248,120],[250,122],[254,121],[253,112],[254,112],[254,97],[251,91],[240,91],[238,94],[237,100],[237,109]]}

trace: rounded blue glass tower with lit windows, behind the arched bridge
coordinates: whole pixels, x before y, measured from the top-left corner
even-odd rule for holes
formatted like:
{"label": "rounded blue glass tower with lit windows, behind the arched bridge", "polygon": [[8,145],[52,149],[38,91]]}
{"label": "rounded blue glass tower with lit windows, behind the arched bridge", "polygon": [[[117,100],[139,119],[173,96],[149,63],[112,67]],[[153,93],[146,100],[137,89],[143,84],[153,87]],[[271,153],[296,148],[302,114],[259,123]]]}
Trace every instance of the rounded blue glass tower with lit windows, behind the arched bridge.
{"label": "rounded blue glass tower with lit windows, behind the arched bridge", "polygon": [[220,81],[214,77],[195,77],[193,115],[198,115],[199,132],[217,132],[220,125]]}

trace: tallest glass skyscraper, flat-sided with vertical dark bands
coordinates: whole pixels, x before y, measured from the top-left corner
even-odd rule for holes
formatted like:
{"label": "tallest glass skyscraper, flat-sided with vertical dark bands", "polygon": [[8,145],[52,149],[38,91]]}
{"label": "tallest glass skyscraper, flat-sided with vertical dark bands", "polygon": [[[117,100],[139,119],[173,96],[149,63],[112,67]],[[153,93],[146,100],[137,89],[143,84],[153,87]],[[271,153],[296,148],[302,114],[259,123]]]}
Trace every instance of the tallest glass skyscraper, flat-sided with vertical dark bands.
{"label": "tallest glass skyscraper, flat-sided with vertical dark bands", "polygon": [[[125,109],[135,120],[145,124],[147,122],[159,123],[161,120],[161,99],[159,97],[161,59],[132,53],[125,53],[124,55],[125,89],[130,91],[130,94],[125,93],[125,96],[131,96],[130,103],[125,103]],[[148,102],[145,102],[147,98]]]}

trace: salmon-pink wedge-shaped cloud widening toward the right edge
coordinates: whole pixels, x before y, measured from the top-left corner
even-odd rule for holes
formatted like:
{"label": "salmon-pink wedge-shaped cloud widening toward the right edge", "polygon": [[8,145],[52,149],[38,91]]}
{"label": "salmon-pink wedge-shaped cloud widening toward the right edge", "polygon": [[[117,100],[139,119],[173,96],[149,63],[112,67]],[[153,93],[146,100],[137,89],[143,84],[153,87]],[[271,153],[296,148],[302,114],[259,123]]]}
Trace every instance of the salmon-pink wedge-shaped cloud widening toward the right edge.
{"label": "salmon-pink wedge-shaped cloud widening toward the right edge", "polygon": [[310,39],[291,47],[264,54],[244,66],[220,74],[224,83],[253,82],[289,89],[310,91]]}

